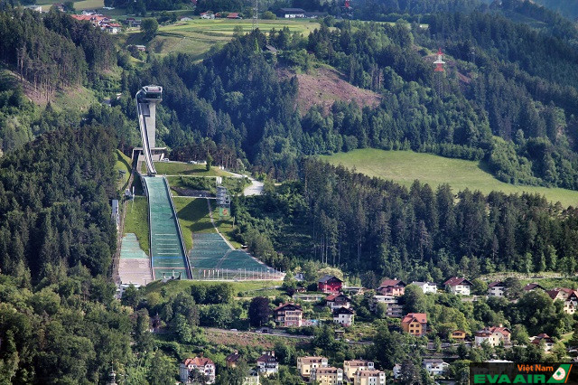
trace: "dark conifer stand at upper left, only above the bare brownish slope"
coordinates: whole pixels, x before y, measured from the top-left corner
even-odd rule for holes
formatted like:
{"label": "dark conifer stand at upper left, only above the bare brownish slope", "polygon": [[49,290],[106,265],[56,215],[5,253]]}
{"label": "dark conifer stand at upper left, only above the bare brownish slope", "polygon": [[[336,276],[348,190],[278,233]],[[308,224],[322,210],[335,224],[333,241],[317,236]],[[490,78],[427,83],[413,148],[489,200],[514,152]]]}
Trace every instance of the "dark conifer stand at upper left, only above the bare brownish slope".
{"label": "dark conifer stand at upper left, only above the bare brownish slope", "polygon": [[55,9],[43,16],[18,8],[2,12],[0,36],[0,61],[47,97],[116,64],[107,33]]}

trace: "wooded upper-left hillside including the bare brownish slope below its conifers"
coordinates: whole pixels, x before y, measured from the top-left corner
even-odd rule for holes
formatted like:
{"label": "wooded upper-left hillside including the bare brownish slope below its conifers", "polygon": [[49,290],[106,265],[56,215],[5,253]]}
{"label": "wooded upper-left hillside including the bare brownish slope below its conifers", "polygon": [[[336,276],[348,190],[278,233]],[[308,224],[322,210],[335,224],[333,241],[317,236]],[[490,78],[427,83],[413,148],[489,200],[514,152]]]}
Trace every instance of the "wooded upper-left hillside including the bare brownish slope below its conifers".
{"label": "wooded upper-left hillside including the bare brownish slope below its conifers", "polygon": [[67,14],[7,9],[0,13],[0,64],[0,150],[5,152],[54,127],[77,127],[78,108],[52,108],[55,94],[73,99],[83,86],[106,94],[114,84],[103,74],[117,67],[117,52],[109,34]]}

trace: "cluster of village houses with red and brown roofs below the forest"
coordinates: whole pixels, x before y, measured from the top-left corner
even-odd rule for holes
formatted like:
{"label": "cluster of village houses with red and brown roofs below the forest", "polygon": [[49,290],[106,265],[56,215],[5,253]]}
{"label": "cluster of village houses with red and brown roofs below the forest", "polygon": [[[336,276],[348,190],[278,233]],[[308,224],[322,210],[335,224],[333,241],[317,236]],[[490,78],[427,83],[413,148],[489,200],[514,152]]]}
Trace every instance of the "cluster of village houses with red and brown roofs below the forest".
{"label": "cluster of village houses with red and brown roofs below the forest", "polygon": [[[392,362],[393,368],[384,367],[379,362],[374,362],[368,357],[356,356],[351,359],[336,361],[335,359],[323,355],[296,355],[294,359],[287,364],[290,371],[294,371],[303,383],[315,384],[354,384],[369,385],[393,383],[411,383],[407,382],[407,371],[421,372],[432,381],[445,381],[447,383],[460,383],[456,381],[455,362],[462,362],[467,350],[474,352],[487,352],[485,362],[513,362],[506,358],[511,357],[508,352],[518,351],[521,347],[529,346],[530,349],[538,350],[540,357],[548,360],[549,355],[552,360],[555,356],[550,352],[560,339],[551,337],[548,333],[537,333],[535,336],[528,336],[527,341],[520,341],[518,327],[513,330],[504,324],[483,324],[482,327],[475,330],[461,330],[458,327],[449,330],[440,328],[437,325],[437,332],[428,323],[427,312],[406,312],[405,309],[411,307],[408,295],[425,297],[450,296],[460,299],[462,304],[475,304],[481,301],[506,301],[516,303],[518,299],[512,298],[511,291],[519,290],[517,298],[527,293],[545,294],[550,298],[552,303],[559,304],[564,314],[573,315],[578,301],[578,292],[569,288],[555,288],[545,290],[544,287],[537,283],[528,283],[521,286],[517,279],[508,278],[508,280],[494,281],[486,283],[483,288],[486,294],[480,294],[479,280],[470,281],[464,277],[450,277],[442,284],[434,282],[406,282],[400,279],[384,279],[373,289],[362,286],[346,286],[345,282],[339,277],[333,275],[323,275],[316,283],[316,286],[298,286],[298,282],[291,287],[285,287],[287,293],[291,294],[288,301],[282,301],[271,307],[269,322],[263,326],[253,329],[254,333],[264,333],[267,335],[277,336],[301,336],[303,338],[318,338],[318,333],[322,329],[329,330],[331,338],[335,341],[346,344],[359,344],[370,346],[372,342],[369,339],[358,339],[356,341],[346,338],[356,327],[368,326],[369,317],[376,317],[387,320],[387,327],[396,333],[411,335],[413,343],[422,344],[421,367],[415,368],[415,365],[408,362]],[[474,295],[474,292],[477,292]],[[255,299],[255,298],[254,298]],[[357,305],[356,305],[357,304]],[[361,306],[359,306],[361,304]],[[366,309],[363,304],[367,304]],[[273,304],[272,304],[273,305]],[[312,306],[317,308],[315,315],[321,312],[329,317],[319,317],[312,319]],[[358,307],[359,306],[359,307]],[[363,320],[358,322],[356,315],[362,313]],[[439,316],[438,316],[439,318]],[[450,323],[451,324],[451,323]],[[306,333],[306,329],[313,329],[313,335],[301,335]],[[446,338],[440,338],[440,330],[444,330]],[[237,329],[234,330],[237,333]],[[242,332],[238,332],[242,333]],[[512,334],[515,333],[515,337]],[[322,349],[315,351],[321,352]],[[359,351],[358,351],[359,352]],[[275,351],[262,352],[262,355],[253,362],[247,362],[246,358],[238,350],[234,350],[225,359],[227,368],[235,368],[239,362],[249,365],[244,384],[259,383],[278,383],[270,382],[275,379],[279,372],[280,360]],[[558,353],[559,354],[559,353]],[[576,355],[575,351],[564,352],[564,355]],[[484,356],[484,354],[482,354]],[[375,358],[375,357],[374,357]],[[574,359],[576,360],[576,359]],[[578,360],[577,360],[578,361]],[[408,368],[409,365],[409,368]],[[197,356],[190,357],[181,363],[182,383],[213,383],[216,376],[215,363],[210,359]],[[201,374],[201,376],[200,376]],[[412,374],[415,375],[415,374]],[[200,376],[200,377],[199,377]],[[204,376],[204,377],[202,377]],[[206,382],[199,382],[203,378]],[[410,375],[411,378],[411,375]],[[267,380],[269,382],[267,382]]]}

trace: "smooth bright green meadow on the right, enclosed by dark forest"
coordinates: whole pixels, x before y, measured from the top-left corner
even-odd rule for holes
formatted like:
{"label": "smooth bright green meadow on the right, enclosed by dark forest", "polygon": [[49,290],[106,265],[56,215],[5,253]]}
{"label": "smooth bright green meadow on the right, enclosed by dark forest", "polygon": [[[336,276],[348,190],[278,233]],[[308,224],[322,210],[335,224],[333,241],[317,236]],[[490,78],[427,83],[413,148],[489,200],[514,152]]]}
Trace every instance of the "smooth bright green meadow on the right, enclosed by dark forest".
{"label": "smooth bright green meadow on the right, enclosed by dark forest", "polygon": [[525,185],[514,185],[500,182],[485,171],[485,164],[443,156],[414,153],[412,151],[384,151],[373,148],[321,156],[331,164],[343,164],[358,173],[396,181],[406,186],[415,179],[422,183],[437,186],[449,183],[454,192],[466,187],[489,193],[501,191],[506,193],[532,192],[545,195],[551,202],[561,202],[564,207],[578,206],[578,192],[559,188],[546,188]]}

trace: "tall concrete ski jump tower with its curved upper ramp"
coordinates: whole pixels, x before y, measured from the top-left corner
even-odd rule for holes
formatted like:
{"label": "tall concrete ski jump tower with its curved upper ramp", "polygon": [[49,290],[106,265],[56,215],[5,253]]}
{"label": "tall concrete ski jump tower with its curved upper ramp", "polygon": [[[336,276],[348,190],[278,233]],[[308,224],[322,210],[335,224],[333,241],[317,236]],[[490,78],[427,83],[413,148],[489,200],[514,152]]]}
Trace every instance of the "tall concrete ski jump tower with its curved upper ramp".
{"label": "tall concrete ski jump tower with its curved upper ramp", "polygon": [[153,150],[163,149],[155,147],[156,139],[156,105],[163,100],[163,87],[144,86],[136,93],[136,113],[138,126],[143,138],[144,163],[147,174],[156,174],[153,163]]}

